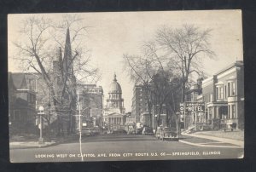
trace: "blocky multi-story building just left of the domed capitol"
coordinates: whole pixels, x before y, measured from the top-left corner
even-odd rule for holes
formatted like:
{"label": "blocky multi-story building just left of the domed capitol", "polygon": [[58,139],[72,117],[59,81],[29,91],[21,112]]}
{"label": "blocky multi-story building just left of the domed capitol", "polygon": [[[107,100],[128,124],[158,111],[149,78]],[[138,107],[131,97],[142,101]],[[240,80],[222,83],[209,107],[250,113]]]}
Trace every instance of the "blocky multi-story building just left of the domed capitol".
{"label": "blocky multi-story building just left of the domed capitol", "polygon": [[[79,84],[77,86],[79,106],[83,123],[88,127],[102,127],[103,89],[96,84]],[[77,128],[79,118],[76,119]]]}

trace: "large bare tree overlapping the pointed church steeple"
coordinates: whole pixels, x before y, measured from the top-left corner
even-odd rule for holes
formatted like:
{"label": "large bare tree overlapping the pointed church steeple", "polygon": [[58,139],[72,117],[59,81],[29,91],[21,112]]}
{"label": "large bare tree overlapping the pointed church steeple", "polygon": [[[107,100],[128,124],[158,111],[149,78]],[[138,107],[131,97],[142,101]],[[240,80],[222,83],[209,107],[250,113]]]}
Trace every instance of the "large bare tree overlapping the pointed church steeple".
{"label": "large bare tree overlapping the pointed church steeple", "polygon": [[98,70],[90,66],[90,51],[85,49],[87,27],[81,25],[82,20],[78,15],[65,15],[61,21],[29,17],[15,43],[19,50],[15,59],[21,67],[43,78],[53,113],[75,112],[77,83],[99,78]]}

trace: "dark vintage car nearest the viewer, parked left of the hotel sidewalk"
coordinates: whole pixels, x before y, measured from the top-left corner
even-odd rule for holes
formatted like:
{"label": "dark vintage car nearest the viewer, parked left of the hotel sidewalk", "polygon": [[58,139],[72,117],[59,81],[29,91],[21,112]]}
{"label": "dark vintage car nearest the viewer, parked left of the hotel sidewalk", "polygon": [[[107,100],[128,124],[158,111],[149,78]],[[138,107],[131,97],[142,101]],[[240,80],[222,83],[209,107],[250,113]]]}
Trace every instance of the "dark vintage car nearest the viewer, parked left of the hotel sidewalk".
{"label": "dark vintage car nearest the viewer, parked left of the hotel sidewalk", "polygon": [[165,127],[165,128],[158,127],[155,135],[158,140],[173,140],[173,141],[178,140],[176,129],[172,129],[168,127]]}

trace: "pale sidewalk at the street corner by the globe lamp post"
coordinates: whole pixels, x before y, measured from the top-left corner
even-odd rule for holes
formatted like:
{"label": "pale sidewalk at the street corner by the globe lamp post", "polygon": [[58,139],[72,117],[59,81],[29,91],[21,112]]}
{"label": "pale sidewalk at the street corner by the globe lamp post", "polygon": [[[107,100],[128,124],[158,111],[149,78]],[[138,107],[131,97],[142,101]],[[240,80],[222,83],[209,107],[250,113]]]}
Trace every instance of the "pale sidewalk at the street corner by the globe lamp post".
{"label": "pale sidewalk at the street corner by the globe lamp post", "polygon": [[69,140],[74,140],[76,139],[76,137],[77,135],[68,135],[64,138],[45,141],[42,144],[39,144],[38,140],[10,141],[9,148],[10,149],[27,149],[27,148],[42,148],[42,147],[48,147],[48,146],[55,146],[55,145],[67,142]]}

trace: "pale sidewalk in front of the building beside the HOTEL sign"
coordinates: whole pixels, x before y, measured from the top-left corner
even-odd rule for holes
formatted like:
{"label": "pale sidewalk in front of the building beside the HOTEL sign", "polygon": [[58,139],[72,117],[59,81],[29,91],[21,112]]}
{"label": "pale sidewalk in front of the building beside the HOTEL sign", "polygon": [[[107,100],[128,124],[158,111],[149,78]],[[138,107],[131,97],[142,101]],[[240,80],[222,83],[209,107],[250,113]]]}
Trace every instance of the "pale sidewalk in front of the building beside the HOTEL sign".
{"label": "pale sidewalk in front of the building beside the HOTEL sign", "polygon": [[[234,146],[244,147],[244,141],[242,141],[242,140],[234,140],[234,139],[217,137],[217,136],[212,136],[212,135],[205,135],[202,132],[198,132],[198,133],[194,133],[194,134],[185,134],[185,133],[183,133],[182,135],[187,135],[187,136],[192,136],[192,137],[207,139],[207,140],[215,140],[215,141],[218,141],[219,143],[227,143],[227,144],[231,144],[231,145],[234,145]],[[196,144],[196,143],[193,143],[193,144]]]}

